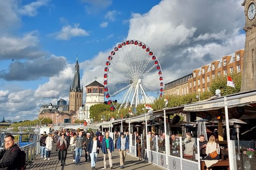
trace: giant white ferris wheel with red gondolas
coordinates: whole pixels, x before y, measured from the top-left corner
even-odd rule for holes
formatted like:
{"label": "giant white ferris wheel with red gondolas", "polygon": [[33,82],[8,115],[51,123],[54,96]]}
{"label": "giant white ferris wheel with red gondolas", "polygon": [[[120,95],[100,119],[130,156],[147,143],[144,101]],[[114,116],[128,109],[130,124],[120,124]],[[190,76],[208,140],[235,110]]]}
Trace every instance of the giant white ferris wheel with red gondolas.
{"label": "giant white ferris wheel with red gondolas", "polygon": [[127,40],[110,51],[104,68],[104,91],[111,110],[153,103],[162,97],[163,85],[159,61],[145,43]]}

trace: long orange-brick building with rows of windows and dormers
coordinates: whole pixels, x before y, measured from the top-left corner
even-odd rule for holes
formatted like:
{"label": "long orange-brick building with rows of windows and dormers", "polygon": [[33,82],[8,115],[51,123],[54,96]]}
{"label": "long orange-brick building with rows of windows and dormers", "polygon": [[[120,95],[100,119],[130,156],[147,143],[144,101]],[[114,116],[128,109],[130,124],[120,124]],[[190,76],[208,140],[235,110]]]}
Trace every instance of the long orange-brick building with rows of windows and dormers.
{"label": "long orange-brick building with rows of windows and dormers", "polygon": [[243,68],[244,49],[239,49],[233,54],[221,57],[200,68],[193,70],[193,77],[188,80],[189,92],[209,91],[211,81],[217,76],[225,76],[236,71],[240,73]]}

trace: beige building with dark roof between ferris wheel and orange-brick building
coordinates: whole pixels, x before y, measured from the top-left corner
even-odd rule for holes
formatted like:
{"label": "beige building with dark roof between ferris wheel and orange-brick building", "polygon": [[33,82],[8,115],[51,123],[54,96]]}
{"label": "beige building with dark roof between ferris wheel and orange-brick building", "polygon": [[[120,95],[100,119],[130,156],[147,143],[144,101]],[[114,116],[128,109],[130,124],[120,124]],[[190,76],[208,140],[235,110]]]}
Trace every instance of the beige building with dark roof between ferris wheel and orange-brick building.
{"label": "beige building with dark roof between ferris wheel and orange-brick building", "polygon": [[188,94],[188,79],[192,78],[192,74],[178,78],[164,85],[164,94]]}

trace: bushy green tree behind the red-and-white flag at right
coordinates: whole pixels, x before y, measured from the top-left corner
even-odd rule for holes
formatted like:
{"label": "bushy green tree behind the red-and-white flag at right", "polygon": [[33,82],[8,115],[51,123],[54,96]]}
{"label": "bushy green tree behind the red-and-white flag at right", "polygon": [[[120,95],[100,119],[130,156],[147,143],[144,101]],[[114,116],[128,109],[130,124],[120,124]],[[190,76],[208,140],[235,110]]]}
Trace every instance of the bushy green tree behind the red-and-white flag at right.
{"label": "bushy green tree behind the red-and-white flag at right", "polygon": [[214,80],[212,80],[210,84],[210,92],[212,95],[215,94],[216,89],[220,89],[220,95],[228,95],[240,92],[241,89],[241,73],[232,73],[229,75],[234,84],[235,88],[227,86],[227,76],[218,76]]}

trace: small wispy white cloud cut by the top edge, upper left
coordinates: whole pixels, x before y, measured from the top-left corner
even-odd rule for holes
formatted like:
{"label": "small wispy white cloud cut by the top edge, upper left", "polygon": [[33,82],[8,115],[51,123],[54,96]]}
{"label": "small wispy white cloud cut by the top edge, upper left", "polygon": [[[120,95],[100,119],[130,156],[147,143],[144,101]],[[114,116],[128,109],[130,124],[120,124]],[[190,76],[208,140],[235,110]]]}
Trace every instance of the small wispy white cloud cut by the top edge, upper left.
{"label": "small wispy white cloud cut by the top edge, upper left", "polygon": [[38,0],[36,2],[31,2],[28,5],[24,5],[22,8],[20,8],[18,12],[22,15],[36,16],[37,9],[41,6],[47,5],[48,2],[49,0]]}

